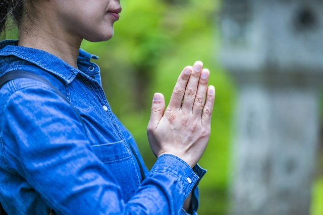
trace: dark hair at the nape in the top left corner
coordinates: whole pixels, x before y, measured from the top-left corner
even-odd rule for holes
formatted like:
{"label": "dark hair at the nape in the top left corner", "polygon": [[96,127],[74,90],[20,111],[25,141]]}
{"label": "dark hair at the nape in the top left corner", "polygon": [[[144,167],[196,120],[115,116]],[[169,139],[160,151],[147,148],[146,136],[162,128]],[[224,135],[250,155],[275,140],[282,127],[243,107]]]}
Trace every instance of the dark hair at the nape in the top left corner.
{"label": "dark hair at the nape in the top left corner", "polygon": [[[0,34],[5,37],[6,26],[12,19],[19,25],[25,9],[25,0],[0,0]],[[13,23],[12,23],[13,24]]]}

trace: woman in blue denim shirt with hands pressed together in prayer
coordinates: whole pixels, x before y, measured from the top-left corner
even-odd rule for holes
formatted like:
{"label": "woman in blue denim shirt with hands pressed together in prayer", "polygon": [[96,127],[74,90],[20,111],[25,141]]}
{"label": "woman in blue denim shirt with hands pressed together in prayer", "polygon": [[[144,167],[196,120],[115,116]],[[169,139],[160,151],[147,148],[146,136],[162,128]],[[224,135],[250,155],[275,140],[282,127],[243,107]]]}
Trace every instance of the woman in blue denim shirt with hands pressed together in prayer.
{"label": "woman in blue denim shirt with hands pressed together in prayer", "polygon": [[163,95],[153,96],[147,133],[158,159],[148,172],[105,99],[97,57],[80,49],[83,39],[113,36],[119,0],[1,0],[0,8],[0,30],[9,15],[19,29],[19,41],[0,43],[0,75],[20,69],[53,85],[17,78],[0,89],[6,212],[195,214],[215,97],[202,62],[184,68],[165,113]]}

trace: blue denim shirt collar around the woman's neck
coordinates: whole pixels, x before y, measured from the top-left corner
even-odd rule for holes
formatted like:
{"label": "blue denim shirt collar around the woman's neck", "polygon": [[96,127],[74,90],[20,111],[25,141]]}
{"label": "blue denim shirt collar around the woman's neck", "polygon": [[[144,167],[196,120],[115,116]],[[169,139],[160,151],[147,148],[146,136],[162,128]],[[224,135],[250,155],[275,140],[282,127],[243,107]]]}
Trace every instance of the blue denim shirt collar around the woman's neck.
{"label": "blue denim shirt collar around the woman's neck", "polygon": [[[53,54],[39,49],[18,46],[18,40],[3,40],[0,42],[0,56],[9,55],[14,55],[31,62],[52,74],[59,76],[67,84],[70,84],[80,72],[79,69],[69,65]],[[93,65],[94,63],[90,62],[91,58],[98,59],[97,56],[80,49],[77,61]]]}

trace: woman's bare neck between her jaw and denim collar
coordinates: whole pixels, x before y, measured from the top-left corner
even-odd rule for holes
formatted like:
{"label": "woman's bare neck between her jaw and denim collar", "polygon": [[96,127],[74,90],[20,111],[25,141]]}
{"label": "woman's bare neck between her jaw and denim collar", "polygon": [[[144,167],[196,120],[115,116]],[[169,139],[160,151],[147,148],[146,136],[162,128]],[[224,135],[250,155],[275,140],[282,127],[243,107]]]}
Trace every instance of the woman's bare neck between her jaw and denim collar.
{"label": "woman's bare neck between her jaw and denim collar", "polygon": [[19,28],[19,46],[46,51],[76,68],[81,43],[82,38],[73,37],[55,20],[26,23]]}

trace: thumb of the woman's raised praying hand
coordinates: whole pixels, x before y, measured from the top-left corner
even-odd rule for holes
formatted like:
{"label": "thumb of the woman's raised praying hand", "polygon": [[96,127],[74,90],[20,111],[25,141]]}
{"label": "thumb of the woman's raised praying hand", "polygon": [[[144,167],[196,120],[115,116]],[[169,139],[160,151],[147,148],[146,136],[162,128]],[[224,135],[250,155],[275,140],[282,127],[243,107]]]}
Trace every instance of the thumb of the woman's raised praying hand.
{"label": "thumb of the woman's raised praying hand", "polygon": [[150,120],[148,123],[147,130],[154,132],[157,125],[163,117],[165,110],[165,98],[161,93],[155,93],[152,100]]}

